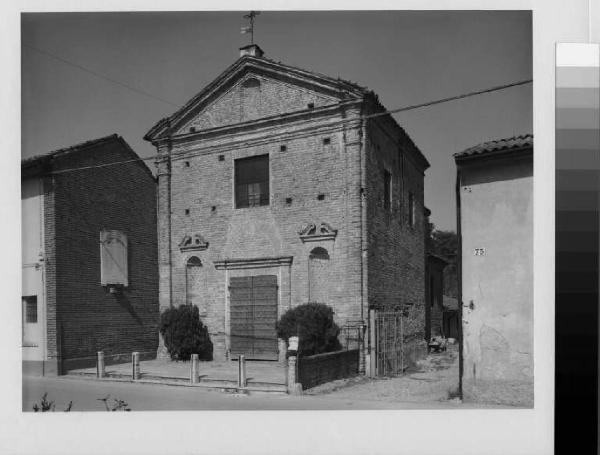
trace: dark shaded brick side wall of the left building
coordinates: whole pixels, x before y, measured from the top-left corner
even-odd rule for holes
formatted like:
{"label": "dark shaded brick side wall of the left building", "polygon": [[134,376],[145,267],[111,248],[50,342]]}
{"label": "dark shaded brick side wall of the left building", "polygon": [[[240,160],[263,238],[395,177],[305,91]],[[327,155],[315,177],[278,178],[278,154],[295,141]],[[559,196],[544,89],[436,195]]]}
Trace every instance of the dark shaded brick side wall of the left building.
{"label": "dark shaded brick side wall of the left building", "polygon": [[[114,141],[54,160],[54,171],[131,160]],[[54,231],[55,296],[48,292],[48,341],[63,368],[93,365],[99,350],[107,357],[132,351],[155,353],[158,342],[158,274],[155,181],[143,163],[56,174],[52,206],[46,207],[46,237]],[[100,231],[128,237],[129,287],[113,295],[100,285]],[[55,311],[53,311],[55,306]],[[52,313],[55,313],[56,323]],[[56,325],[55,325],[56,324]],[[52,349],[50,349],[52,353]]]}

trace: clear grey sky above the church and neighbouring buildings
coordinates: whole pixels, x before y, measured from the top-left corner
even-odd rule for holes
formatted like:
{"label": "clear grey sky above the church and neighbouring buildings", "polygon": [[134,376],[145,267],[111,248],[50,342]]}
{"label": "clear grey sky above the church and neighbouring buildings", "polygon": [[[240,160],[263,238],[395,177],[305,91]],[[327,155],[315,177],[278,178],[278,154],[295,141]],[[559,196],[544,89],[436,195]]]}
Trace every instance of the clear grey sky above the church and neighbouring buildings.
{"label": "clear grey sky above the church and neighbouring buildings", "polygon": [[[23,14],[22,157],[113,133],[154,155],[142,137],[239,57],[245,13]],[[388,109],[532,78],[528,11],[262,11],[255,42],[270,59],[369,87]],[[455,230],[452,154],[531,133],[532,85],[394,117],[431,164],[431,221]]]}

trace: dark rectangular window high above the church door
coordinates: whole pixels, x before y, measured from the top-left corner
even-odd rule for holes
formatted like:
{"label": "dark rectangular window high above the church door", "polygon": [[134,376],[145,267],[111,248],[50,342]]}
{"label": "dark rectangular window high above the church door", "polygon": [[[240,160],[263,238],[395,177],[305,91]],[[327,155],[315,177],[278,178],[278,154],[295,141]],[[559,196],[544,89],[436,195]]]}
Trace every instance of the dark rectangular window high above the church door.
{"label": "dark rectangular window high above the church door", "polygon": [[269,155],[235,161],[235,208],[269,205]]}

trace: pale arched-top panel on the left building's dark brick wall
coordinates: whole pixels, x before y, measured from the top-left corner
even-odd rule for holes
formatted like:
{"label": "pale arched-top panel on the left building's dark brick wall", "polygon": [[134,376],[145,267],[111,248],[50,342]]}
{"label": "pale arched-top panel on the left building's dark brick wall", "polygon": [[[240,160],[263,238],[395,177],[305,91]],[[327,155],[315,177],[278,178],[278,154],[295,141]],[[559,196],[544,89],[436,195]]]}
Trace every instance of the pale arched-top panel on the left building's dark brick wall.
{"label": "pale arched-top panel on the left building's dark brick wall", "polygon": [[121,231],[100,232],[100,281],[102,286],[129,286],[127,235]]}

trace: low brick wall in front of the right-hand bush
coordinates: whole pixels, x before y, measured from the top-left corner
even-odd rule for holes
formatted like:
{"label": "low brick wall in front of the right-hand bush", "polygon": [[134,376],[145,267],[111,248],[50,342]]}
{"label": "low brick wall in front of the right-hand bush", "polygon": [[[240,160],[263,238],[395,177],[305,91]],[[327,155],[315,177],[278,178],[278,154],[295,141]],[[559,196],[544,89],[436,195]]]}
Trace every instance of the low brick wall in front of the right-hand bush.
{"label": "low brick wall in front of the right-hand bush", "polygon": [[297,382],[302,389],[358,374],[359,350],[326,352],[298,359]]}

